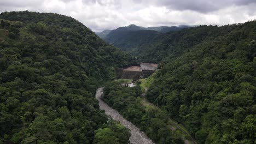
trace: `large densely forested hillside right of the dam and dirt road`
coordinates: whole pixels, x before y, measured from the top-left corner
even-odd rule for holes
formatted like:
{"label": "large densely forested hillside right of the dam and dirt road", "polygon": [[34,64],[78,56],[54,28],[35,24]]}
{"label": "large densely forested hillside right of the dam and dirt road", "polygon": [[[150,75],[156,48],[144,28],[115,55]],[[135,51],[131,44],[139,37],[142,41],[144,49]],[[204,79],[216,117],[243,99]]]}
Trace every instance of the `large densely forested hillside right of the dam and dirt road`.
{"label": "large densely forested hillside right of the dam and dirt road", "polygon": [[198,143],[255,143],[256,21],[166,33],[138,53],[160,62],[147,99]]}

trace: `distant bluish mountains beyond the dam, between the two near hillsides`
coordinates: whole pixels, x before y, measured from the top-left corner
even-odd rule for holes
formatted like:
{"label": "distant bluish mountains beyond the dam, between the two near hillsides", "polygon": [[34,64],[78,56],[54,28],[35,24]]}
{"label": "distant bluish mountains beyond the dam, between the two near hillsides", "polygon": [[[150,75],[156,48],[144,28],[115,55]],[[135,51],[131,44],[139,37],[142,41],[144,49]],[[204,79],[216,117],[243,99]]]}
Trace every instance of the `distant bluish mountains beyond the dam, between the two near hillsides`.
{"label": "distant bluish mountains beyond the dam, between the two near hillsides", "polygon": [[136,25],[129,25],[126,27],[119,27],[114,30],[104,30],[96,33],[100,38],[107,41],[109,44],[119,47],[124,51],[134,51],[139,49],[141,45],[150,43],[156,36],[170,31],[179,31],[183,28],[191,26],[160,26],[160,27],[140,27]]}

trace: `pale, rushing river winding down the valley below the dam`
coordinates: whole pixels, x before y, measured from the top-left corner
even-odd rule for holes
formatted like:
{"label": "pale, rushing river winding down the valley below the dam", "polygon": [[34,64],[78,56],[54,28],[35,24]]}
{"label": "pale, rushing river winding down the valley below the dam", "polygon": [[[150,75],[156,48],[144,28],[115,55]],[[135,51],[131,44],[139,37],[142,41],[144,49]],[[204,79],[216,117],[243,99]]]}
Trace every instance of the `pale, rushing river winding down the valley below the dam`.
{"label": "pale, rushing river winding down the valley below the dam", "polygon": [[112,117],[115,121],[120,121],[126,128],[131,130],[130,143],[132,144],[153,144],[154,142],[149,139],[149,137],[139,130],[134,124],[127,121],[123,116],[119,114],[118,111],[112,109],[104,101],[101,100],[101,95],[103,94],[103,88],[98,88],[96,92],[96,98],[99,101],[100,109],[104,110],[106,115]]}

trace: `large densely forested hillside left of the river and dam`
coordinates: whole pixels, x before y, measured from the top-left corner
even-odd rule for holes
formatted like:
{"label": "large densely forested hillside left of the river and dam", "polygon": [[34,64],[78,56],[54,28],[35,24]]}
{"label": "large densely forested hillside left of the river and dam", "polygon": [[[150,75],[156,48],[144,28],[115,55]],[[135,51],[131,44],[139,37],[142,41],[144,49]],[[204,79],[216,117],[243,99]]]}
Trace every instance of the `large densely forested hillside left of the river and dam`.
{"label": "large densely forested hillside left of the river and dam", "polygon": [[129,55],[71,17],[13,11],[0,19],[0,143],[129,142],[95,99],[115,67],[135,62]]}

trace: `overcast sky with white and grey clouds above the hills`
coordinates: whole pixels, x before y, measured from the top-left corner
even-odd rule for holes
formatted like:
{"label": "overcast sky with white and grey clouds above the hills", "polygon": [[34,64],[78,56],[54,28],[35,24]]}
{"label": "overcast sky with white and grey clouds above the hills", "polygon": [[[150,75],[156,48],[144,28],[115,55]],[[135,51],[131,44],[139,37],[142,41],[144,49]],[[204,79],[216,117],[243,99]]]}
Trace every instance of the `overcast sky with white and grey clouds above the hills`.
{"label": "overcast sky with white and grey clouds above the hills", "polygon": [[74,17],[98,32],[138,26],[226,25],[256,19],[256,0],[0,0],[0,12]]}

